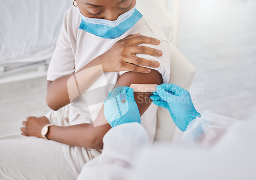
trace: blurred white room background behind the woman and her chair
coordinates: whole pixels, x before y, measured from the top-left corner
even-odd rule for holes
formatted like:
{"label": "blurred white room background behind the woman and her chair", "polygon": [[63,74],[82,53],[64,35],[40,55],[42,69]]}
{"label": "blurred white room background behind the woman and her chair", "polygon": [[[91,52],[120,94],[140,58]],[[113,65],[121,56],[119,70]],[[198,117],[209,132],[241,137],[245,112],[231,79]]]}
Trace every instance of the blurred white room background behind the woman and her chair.
{"label": "blurred white room background behind the woman and her chair", "polygon": [[[0,136],[20,134],[27,116],[50,110],[47,67],[73,1],[13,2],[0,2]],[[196,109],[256,119],[256,1],[151,2],[137,0],[138,9],[196,68],[190,89]]]}

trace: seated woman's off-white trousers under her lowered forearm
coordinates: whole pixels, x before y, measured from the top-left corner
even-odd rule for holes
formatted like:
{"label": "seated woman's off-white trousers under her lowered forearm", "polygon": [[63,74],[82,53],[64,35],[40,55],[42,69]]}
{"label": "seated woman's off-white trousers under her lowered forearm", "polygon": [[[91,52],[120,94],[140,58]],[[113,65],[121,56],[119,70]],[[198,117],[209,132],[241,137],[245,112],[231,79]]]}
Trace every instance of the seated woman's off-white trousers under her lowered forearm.
{"label": "seated woman's off-white trousers under her lowered forearm", "polygon": [[[50,111],[50,123],[67,126],[69,106]],[[0,138],[0,179],[76,179],[83,165],[101,150],[75,147],[22,135]]]}

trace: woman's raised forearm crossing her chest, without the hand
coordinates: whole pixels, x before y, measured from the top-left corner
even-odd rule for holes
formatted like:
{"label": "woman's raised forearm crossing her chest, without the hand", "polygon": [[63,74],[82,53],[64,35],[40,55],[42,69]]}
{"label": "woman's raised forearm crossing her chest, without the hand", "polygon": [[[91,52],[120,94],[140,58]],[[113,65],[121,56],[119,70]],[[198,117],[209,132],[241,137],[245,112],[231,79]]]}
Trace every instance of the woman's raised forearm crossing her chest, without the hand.
{"label": "woman's raised forearm crossing her chest, without the hand", "polygon": [[52,110],[58,110],[72,102],[84,93],[103,74],[99,58],[94,59],[79,71],[48,81],[47,105]]}

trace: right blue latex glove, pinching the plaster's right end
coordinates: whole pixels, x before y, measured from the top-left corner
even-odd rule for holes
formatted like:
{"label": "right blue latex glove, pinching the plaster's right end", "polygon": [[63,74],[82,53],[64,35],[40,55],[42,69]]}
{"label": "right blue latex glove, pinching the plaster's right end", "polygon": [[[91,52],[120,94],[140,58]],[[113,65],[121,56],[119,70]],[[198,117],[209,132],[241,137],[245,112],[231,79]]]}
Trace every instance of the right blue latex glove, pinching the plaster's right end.
{"label": "right blue latex glove, pinching the plaster's right end", "polygon": [[200,115],[189,92],[175,84],[162,84],[157,86],[156,90],[150,97],[153,103],[166,108],[177,127],[183,132],[186,131],[188,123]]}

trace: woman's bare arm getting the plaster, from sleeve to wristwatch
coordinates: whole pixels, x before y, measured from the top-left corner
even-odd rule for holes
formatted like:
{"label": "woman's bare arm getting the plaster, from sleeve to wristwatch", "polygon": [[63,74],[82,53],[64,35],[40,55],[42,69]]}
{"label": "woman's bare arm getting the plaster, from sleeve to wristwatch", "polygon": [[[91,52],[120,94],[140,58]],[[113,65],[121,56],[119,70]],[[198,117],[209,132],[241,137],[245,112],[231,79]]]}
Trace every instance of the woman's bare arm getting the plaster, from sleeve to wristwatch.
{"label": "woman's bare arm getting the plaster, from sleeve to wristwatch", "polygon": [[[130,86],[131,84],[162,84],[162,76],[156,70],[150,73],[126,72],[120,76],[116,86]],[[151,105],[151,93],[135,92],[140,115]],[[106,121],[104,112],[100,111],[95,121]],[[87,147],[92,149],[103,148],[103,137],[110,130],[108,123],[94,126],[94,124],[77,124],[71,126],[50,126],[47,138],[68,145]]]}

